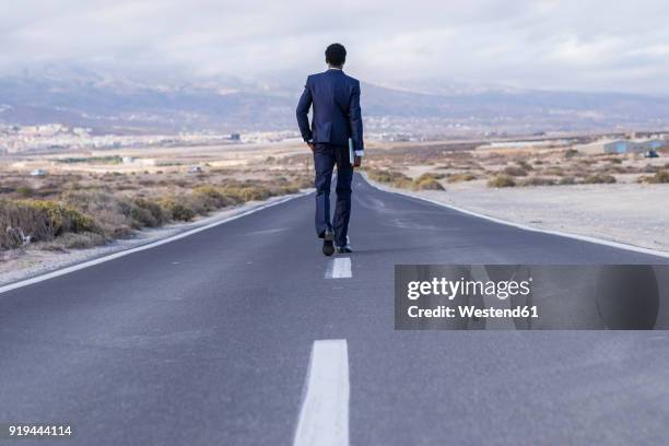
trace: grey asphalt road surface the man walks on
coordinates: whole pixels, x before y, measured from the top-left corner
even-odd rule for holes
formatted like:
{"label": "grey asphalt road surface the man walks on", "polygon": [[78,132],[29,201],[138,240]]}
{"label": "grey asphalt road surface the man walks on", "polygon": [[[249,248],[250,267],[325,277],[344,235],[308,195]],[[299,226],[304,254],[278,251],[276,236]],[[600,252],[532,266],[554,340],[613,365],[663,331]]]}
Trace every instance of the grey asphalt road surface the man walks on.
{"label": "grey asphalt road surface the man walks on", "polygon": [[352,445],[669,443],[665,331],[402,332],[392,305],[396,263],[667,259],[356,176],[352,277],[327,279],[313,207],[297,198],[0,294],[0,423],[69,422],[62,444],[290,445],[314,341],[345,339]]}

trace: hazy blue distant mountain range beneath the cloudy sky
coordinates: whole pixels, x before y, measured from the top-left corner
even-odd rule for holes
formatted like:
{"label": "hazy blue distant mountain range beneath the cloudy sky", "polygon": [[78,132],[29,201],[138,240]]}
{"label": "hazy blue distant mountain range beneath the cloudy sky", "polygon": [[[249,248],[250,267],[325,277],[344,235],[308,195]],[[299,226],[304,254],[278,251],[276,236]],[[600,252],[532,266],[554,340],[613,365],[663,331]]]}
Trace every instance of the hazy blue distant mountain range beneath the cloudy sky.
{"label": "hazy blue distant mountain range beneath the cloudy sky", "polygon": [[[61,122],[98,132],[295,128],[294,82],[157,72],[141,78],[45,66],[0,75],[0,122]],[[424,81],[363,84],[371,131],[443,132],[666,128],[669,96],[530,91]]]}

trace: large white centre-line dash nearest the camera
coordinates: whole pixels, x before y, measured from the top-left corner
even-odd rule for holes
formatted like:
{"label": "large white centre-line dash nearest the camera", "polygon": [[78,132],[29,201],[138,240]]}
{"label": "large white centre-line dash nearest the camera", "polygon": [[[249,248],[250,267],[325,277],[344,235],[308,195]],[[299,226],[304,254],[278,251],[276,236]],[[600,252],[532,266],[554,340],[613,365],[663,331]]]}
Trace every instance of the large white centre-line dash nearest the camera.
{"label": "large white centre-line dash nearest the camera", "polygon": [[293,446],[349,445],[349,348],[314,341]]}

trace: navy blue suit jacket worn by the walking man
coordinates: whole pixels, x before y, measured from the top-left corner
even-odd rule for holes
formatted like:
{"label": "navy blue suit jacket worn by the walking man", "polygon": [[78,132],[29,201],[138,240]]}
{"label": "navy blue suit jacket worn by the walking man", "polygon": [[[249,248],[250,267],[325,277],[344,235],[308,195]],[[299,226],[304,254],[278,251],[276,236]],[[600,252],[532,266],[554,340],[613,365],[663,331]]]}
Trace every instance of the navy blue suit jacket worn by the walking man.
{"label": "navy blue suit jacket worn by the walking man", "polygon": [[[309,127],[308,113],[312,105],[314,116]],[[351,138],[356,151],[364,150],[360,82],[343,71],[329,69],[309,75],[296,115],[305,141],[348,146]]]}

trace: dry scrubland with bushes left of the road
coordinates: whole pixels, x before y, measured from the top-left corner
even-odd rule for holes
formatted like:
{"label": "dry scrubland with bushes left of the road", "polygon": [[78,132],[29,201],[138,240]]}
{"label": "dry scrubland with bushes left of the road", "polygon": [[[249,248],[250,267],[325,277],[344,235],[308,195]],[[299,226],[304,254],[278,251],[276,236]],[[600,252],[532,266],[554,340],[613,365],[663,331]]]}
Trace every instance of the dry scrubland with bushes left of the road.
{"label": "dry scrubland with bushes left of the road", "polygon": [[[0,272],[312,187],[303,146],[128,149],[4,157]],[[52,255],[45,256],[45,251]]]}

